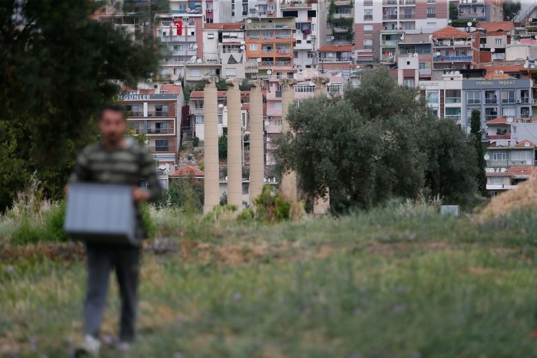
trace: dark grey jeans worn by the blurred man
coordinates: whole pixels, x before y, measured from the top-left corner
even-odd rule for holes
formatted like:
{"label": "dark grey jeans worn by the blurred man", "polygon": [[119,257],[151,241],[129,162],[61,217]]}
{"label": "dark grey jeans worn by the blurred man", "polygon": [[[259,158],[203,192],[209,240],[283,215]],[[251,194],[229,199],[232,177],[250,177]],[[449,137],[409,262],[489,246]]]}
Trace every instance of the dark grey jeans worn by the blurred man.
{"label": "dark grey jeans worn by the blurred man", "polygon": [[98,337],[105,310],[108,282],[116,271],[121,298],[119,338],[134,340],[140,248],[134,246],[86,245],[87,291],[84,304],[84,334]]}

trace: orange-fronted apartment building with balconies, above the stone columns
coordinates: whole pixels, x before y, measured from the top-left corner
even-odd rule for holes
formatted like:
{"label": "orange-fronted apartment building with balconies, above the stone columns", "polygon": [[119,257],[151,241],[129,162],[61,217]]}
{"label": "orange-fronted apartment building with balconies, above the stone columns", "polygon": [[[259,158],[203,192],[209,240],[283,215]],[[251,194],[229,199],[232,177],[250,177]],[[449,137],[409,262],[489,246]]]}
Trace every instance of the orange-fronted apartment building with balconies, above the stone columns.
{"label": "orange-fronted apartment building with balconies, above the stone columns", "polygon": [[246,19],[247,76],[267,78],[276,71],[295,72],[295,30],[294,17]]}

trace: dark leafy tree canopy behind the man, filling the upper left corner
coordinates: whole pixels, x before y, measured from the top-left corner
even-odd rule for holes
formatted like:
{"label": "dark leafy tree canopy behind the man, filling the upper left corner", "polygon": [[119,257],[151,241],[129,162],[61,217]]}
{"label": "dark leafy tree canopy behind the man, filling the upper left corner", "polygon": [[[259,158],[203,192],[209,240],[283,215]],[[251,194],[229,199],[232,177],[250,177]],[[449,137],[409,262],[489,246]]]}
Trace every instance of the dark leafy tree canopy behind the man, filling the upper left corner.
{"label": "dark leafy tree canopy behind the man, filling the upper left corner", "polygon": [[[0,211],[36,172],[59,195],[117,81],[151,77],[153,42],[92,19],[91,0],[6,0],[0,8]],[[149,36],[152,37],[152,36]],[[115,80],[115,81],[114,81]]]}

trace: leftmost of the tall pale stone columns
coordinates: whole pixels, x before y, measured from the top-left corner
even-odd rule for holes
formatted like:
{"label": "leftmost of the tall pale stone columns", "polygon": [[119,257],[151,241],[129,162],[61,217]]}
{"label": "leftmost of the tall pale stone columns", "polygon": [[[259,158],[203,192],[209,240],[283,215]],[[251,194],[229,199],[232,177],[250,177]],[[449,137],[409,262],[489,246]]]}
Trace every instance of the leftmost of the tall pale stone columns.
{"label": "leftmost of the tall pale stone columns", "polygon": [[208,213],[220,203],[220,190],[218,189],[218,97],[216,92],[215,76],[203,78],[203,127],[204,139],[204,213]]}

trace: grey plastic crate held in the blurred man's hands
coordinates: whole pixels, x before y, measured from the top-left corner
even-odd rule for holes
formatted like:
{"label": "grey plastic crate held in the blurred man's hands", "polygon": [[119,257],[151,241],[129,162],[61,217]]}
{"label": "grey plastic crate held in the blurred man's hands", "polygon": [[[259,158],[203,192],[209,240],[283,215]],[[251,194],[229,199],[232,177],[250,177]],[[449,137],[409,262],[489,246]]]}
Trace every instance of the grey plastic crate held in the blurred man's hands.
{"label": "grey plastic crate held in the blurred man's hands", "polygon": [[132,187],[70,184],[64,229],[75,240],[138,245]]}

